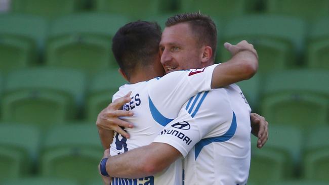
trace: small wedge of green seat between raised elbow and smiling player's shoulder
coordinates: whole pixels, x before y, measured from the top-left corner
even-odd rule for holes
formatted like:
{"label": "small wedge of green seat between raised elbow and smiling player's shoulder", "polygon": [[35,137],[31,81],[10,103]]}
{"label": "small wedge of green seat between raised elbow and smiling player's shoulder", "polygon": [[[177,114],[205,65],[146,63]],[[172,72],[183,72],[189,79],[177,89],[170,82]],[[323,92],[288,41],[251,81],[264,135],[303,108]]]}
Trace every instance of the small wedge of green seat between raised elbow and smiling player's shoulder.
{"label": "small wedge of green seat between raised elbow and smiling player's shoulder", "polygon": [[240,89],[246,100],[249,103],[249,106],[252,108],[252,112],[258,109],[258,104],[260,100],[260,91],[261,91],[261,74],[256,74],[249,80],[244,80],[236,83],[239,85]]}

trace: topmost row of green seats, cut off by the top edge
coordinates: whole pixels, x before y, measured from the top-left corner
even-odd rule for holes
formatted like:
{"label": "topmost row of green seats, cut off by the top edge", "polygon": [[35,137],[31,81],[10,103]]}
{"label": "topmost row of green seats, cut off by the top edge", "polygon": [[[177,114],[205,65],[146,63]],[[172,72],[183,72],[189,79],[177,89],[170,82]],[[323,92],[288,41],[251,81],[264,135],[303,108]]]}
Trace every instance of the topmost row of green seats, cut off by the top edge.
{"label": "topmost row of green seats, cut off by the top edge", "polygon": [[125,14],[139,19],[160,13],[198,11],[217,18],[259,11],[268,14],[298,16],[308,20],[329,15],[329,1],[327,0],[316,0],[311,4],[308,0],[207,0],[202,2],[189,0],[130,0],[125,2],[114,0],[52,0],[47,2],[12,0],[9,7],[12,12],[42,15],[49,18],[86,11],[87,7],[92,7],[92,11]]}

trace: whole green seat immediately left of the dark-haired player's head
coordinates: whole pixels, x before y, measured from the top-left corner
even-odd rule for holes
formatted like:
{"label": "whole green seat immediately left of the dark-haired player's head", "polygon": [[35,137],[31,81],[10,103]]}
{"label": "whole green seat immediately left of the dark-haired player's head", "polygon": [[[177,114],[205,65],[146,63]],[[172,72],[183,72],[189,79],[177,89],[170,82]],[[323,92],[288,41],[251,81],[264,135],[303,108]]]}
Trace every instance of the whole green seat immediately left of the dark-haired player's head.
{"label": "whole green seat immediately left of the dark-haired player's head", "polygon": [[47,42],[46,65],[82,69],[90,74],[117,67],[112,37],[128,22],[126,17],[101,13],[56,19]]}

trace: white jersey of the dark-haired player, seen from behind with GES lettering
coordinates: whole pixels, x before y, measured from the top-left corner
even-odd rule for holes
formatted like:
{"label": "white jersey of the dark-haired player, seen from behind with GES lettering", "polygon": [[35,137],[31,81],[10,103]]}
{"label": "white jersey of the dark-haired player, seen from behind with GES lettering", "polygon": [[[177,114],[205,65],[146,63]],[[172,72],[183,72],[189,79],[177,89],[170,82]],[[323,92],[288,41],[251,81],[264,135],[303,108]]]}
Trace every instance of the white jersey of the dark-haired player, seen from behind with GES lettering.
{"label": "white jersey of the dark-haired player, seen from behind with GES lettering", "polygon": [[[132,91],[132,100],[122,107],[134,111],[132,117],[122,117],[134,124],[134,128],[125,128],[130,134],[127,139],[114,133],[110,146],[111,156],[149,145],[157,134],[178,116],[182,105],[200,91],[211,89],[214,68],[175,71],[161,78],[135,84],[125,84],[113,96],[113,101]],[[181,160],[169,168],[154,175],[139,179],[112,178],[111,184],[182,184],[183,166]]]}

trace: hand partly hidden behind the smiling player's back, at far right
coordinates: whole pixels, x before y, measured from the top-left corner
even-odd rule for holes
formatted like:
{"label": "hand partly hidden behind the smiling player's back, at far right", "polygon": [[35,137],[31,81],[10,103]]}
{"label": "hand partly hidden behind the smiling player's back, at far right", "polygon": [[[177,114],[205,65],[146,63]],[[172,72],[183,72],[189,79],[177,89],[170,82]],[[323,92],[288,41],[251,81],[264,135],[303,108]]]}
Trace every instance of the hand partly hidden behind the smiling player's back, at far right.
{"label": "hand partly hidden behind the smiling player's back, at far right", "polygon": [[258,137],[257,147],[262,148],[268,140],[268,122],[263,116],[250,114],[252,134]]}

